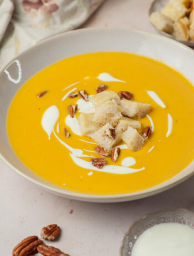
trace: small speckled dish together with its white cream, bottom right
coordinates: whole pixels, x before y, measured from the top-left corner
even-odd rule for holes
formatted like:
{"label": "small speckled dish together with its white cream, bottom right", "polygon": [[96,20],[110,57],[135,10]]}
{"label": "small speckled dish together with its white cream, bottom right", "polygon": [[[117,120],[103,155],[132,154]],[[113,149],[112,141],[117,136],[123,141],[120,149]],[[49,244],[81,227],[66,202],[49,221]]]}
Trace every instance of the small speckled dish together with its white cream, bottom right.
{"label": "small speckled dish together with its white cream, bottom right", "polygon": [[147,214],[126,233],[121,256],[192,256],[193,225],[194,214],[185,209]]}

